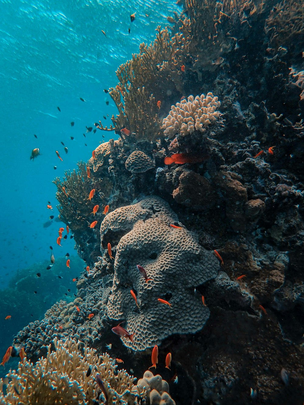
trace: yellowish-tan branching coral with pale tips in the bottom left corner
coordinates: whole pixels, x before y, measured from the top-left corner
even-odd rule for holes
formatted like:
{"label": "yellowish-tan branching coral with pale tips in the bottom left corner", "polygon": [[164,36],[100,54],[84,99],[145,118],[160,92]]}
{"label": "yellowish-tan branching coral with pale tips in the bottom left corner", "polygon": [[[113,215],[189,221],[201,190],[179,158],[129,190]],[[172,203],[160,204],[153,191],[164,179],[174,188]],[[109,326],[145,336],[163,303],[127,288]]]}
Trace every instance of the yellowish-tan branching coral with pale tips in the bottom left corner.
{"label": "yellowish-tan branching coral with pale tips in the bottom left corner", "polygon": [[[0,401],[11,405],[87,405],[98,396],[103,398],[96,384],[99,373],[108,394],[108,404],[137,404],[146,396],[146,390],[134,385],[134,377],[122,370],[116,370],[115,361],[107,353],[97,356],[96,350],[85,347],[81,342],[54,339],[55,351],[47,346],[47,355],[36,364],[28,360],[19,362],[18,370],[10,371],[11,379],[3,394],[0,382]],[[88,369],[91,374],[87,376]],[[6,401],[6,402],[5,402]],[[1,403],[1,402],[0,402]]]}

